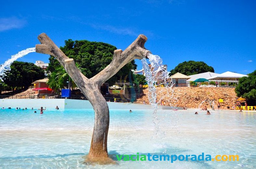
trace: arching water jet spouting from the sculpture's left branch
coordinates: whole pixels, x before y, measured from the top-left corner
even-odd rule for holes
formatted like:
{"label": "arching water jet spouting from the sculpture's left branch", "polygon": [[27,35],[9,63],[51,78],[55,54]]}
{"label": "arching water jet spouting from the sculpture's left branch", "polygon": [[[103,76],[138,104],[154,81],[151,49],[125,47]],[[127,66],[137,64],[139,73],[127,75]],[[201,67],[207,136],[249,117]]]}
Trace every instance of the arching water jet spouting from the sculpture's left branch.
{"label": "arching water jet spouting from the sculpture's left branch", "polygon": [[10,59],[6,60],[5,63],[3,65],[1,65],[0,67],[0,79],[2,80],[2,75],[5,74],[6,70],[10,70],[10,66],[11,64],[17,60],[18,58],[21,58],[31,52],[35,52],[35,48],[27,48],[25,50],[20,51],[19,53],[12,55]]}

